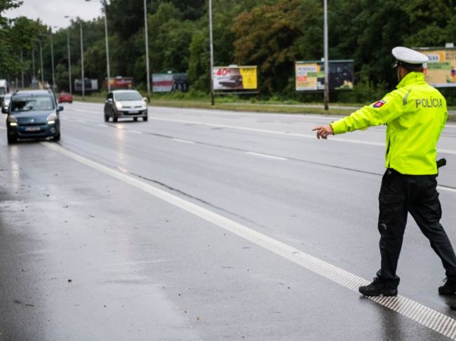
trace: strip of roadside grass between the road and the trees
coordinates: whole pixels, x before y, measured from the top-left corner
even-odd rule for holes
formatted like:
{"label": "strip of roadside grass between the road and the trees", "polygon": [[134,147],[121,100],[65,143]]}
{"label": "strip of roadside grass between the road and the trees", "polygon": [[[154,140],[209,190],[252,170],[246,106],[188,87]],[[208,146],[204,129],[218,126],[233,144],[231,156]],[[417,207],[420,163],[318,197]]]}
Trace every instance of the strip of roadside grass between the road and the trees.
{"label": "strip of roadside grass between the road and the trees", "polygon": [[[144,95],[144,94],[142,94]],[[73,95],[74,101],[104,103],[105,95],[91,94],[82,99],[79,95]],[[210,97],[208,95],[195,96],[188,92],[180,95],[165,94],[152,95],[149,105],[166,106],[175,108],[195,108],[195,109],[216,109],[216,110],[232,110],[232,111],[248,111],[254,113],[309,113],[317,115],[349,115],[357,108],[363,105],[360,103],[330,103],[329,110],[323,109],[321,103],[302,103],[297,101],[280,101],[278,99],[259,100],[259,99],[241,99],[237,96],[223,96],[215,98],[215,105],[210,105]],[[347,109],[345,109],[347,107]],[[456,110],[456,106],[448,107],[449,110]],[[456,121],[456,114],[449,114],[448,120]]]}

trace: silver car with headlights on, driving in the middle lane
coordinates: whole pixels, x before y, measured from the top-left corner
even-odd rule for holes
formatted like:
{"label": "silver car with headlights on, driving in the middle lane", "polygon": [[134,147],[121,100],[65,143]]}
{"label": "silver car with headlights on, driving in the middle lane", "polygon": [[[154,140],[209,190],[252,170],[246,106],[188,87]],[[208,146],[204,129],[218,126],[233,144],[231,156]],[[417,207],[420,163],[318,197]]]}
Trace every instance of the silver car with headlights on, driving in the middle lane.
{"label": "silver car with headlights on, driving in the middle lane", "polygon": [[112,118],[117,122],[119,118],[133,118],[147,121],[147,99],[141,97],[136,90],[114,90],[107,94],[105,102],[105,122]]}

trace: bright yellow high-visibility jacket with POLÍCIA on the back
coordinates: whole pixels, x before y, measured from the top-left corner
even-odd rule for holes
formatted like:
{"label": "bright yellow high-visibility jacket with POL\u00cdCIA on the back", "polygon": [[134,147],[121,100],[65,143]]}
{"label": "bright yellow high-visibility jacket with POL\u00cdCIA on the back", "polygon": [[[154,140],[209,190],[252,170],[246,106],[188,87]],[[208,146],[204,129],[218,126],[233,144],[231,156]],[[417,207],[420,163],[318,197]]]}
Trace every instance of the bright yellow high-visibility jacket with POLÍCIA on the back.
{"label": "bright yellow high-visibility jacket with POL\u00cdCIA on the back", "polygon": [[387,124],[385,167],[401,174],[437,174],[436,144],[448,118],[445,97],[410,72],[382,100],[330,123],[334,134]]}

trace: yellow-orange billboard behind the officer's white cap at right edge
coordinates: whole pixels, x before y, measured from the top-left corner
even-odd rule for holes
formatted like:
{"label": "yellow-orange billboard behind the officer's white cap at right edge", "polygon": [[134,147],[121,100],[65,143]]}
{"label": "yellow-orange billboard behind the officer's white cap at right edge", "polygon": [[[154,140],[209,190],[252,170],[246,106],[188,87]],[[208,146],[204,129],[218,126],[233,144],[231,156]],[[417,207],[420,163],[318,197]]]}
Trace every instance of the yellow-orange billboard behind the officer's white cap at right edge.
{"label": "yellow-orange billboard behind the officer's white cap at right edge", "polygon": [[456,48],[419,48],[429,57],[424,64],[426,82],[436,88],[456,87]]}

